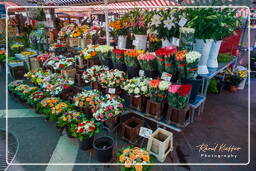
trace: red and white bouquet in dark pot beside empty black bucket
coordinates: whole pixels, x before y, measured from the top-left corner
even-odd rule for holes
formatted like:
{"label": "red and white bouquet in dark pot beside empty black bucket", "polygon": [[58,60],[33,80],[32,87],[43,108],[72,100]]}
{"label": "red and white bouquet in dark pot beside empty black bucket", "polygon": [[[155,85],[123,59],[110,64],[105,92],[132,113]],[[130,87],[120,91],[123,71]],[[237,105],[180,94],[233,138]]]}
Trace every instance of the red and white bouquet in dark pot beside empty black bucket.
{"label": "red and white bouquet in dark pot beside empty black bucket", "polygon": [[95,122],[94,119],[83,120],[76,126],[72,127],[72,135],[80,140],[80,148],[82,150],[89,150],[92,148],[94,135],[97,134],[100,129],[100,123]]}

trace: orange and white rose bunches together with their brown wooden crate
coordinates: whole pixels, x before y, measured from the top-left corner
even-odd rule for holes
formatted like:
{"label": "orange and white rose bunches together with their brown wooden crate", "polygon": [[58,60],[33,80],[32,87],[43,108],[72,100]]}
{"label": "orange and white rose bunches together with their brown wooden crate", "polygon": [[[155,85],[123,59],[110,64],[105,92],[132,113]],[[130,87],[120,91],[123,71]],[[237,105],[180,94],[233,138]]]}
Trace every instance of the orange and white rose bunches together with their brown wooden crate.
{"label": "orange and white rose bunches together with their brown wooden crate", "polygon": [[167,90],[171,83],[169,81],[151,80],[149,85],[151,97],[147,101],[145,115],[160,120],[165,106]]}

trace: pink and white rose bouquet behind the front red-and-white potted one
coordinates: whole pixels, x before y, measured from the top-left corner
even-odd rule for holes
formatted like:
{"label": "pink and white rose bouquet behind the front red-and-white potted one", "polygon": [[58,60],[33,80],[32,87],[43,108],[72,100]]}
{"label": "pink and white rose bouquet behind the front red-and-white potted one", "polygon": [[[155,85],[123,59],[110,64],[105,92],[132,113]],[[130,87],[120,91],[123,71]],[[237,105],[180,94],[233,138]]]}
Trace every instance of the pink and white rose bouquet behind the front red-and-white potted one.
{"label": "pink and white rose bouquet behind the front red-and-white potted one", "polygon": [[105,97],[93,111],[93,117],[97,121],[113,119],[124,111],[124,100],[121,98]]}

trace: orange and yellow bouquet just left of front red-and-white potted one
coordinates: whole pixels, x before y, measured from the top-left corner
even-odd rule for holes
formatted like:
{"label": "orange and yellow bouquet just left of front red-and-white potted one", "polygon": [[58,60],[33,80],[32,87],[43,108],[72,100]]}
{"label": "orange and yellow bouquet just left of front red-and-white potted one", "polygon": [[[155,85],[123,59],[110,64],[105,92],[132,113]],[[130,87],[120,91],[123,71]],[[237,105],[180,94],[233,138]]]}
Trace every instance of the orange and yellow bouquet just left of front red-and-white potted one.
{"label": "orange and yellow bouquet just left of front red-and-white potted one", "polygon": [[67,127],[68,129],[73,127],[74,124],[82,122],[84,115],[77,111],[68,111],[58,118],[57,125],[59,127]]}

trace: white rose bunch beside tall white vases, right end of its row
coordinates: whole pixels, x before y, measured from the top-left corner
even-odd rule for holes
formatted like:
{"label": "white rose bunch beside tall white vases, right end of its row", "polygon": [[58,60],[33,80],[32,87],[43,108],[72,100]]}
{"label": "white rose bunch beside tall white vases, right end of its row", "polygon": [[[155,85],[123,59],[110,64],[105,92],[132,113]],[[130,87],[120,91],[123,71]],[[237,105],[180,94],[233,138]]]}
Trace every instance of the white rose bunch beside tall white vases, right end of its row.
{"label": "white rose bunch beside tall white vases, right end of its row", "polygon": [[197,76],[198,63],[201,54],[196,51],[191,51],[186,54],[186,78],[195,79]]}

